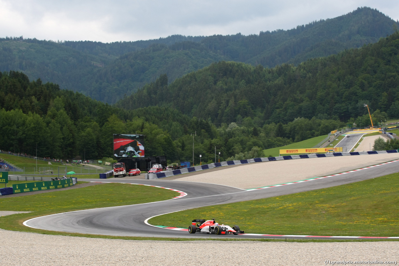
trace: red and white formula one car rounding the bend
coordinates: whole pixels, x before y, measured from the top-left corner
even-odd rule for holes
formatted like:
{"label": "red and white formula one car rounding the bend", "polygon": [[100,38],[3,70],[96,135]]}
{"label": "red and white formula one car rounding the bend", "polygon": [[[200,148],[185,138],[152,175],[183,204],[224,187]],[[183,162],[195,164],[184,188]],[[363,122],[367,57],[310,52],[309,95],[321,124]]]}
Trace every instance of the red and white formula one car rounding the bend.
{"label": "red and white formula one car rounding the bend", "polygon": [[[198,224],[197,224],[198,222]],[[215,219],[194,219],[192,224],[188,226],[188,232],[195,234],[196,232],[207,233],[207,234],[244,234],[237,225],[232,227],[224,224],[218,224]]]}

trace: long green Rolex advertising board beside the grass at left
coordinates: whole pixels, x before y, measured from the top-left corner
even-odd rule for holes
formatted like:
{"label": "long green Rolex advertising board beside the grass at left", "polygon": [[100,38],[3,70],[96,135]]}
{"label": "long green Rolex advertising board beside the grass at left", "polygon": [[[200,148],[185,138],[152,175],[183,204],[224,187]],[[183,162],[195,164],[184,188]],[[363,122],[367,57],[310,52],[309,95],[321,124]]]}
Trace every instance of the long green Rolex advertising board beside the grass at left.
{"label": "long green Rolex advertising board beside the grass at left", "polygon": [[12,190],[14,194],[39,191],[39,190],[49,190],[49,189],[61,189],[63,187],[73,186],[73,178],[53,180],[53,181],[37,181],[32,183],[22,183],[12,185]]}

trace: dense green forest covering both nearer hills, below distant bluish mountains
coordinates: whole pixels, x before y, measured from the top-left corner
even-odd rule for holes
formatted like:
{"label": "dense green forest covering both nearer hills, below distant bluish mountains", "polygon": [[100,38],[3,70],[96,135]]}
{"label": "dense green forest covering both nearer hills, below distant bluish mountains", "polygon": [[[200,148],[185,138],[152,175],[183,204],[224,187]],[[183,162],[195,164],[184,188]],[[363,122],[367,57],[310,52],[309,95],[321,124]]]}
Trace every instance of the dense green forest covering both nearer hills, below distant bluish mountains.
{"label": "dense green forest covering both nearer hills, below distant bluish mountains", "polygon": [[[298,66],[218,62],[169,82],[162,74],[111,106],[59,85],[0,75],[0,149],[54,158],[112,156],[112,134],[146,135],[146,155],[203,163],[399,117],[399,32]],[[266,155],[267,156],[267,155]]]}

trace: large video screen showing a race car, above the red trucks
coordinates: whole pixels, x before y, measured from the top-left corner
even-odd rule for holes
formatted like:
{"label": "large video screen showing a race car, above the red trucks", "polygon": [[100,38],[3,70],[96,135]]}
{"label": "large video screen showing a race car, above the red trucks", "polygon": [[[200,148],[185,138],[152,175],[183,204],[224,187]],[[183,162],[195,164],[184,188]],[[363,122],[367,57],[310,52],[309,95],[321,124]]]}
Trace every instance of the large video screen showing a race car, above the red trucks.
{"label": "large video screen showing a race car, above the red trucks", "polygon": [[114,156],[117,158],[144,157],[144,135],[114,134]]}

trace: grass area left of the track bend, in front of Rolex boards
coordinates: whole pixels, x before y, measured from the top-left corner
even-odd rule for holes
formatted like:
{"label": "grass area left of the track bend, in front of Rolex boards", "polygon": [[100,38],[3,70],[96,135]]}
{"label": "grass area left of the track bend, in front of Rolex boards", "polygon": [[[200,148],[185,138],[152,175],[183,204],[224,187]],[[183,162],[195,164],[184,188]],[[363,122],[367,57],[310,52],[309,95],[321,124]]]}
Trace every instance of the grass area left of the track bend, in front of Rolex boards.
{"label": "grass area left of the track bend, in front of Rolex boards", "polygon": [[[24,226],[22,223],[30,218],[48,214],[91,208],[140,204],[172,199],[178,195],[180,194],[168,189],[142,185],[109,183],[36,195],[21,195],[20,197],[10,198],[0,197],[0,210],[31,211],[30,213],[1,216],[0,228],[45,234],[67,234],[29,228]],[[82,236],[82,234],[69,233],[67,235]]]}

